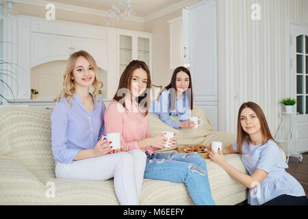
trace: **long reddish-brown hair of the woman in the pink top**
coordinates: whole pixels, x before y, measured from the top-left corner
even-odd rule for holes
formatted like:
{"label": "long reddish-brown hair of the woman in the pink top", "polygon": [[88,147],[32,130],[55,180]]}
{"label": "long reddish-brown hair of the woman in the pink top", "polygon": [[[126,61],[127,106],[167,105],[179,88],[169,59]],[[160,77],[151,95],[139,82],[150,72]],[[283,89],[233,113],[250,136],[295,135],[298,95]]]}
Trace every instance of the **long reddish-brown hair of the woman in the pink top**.
{"label": "long reddish-brown hair of the woman in the pink top", "polygon": [[[126,66],[125,70],[123,71],[120,81],[118,83],[118,90],[116,90],[116,94],[114,94],[114,100],[120,102],[121,99],[123,99],[123,95],[127,95],[126,92],[122,92],[121,89],[125,88],[125,90],[131,89],[131,79],[133,78],[133,72],[138,69],[142,68],[143,70],[146,71],[146,75],[148,77],[148,81],[146,83],[146,90],[138,96],[136,101],[140,103],[141,107],[144,108],[144,116],[146,116],[149,112],[150,108],[150,101],[151,101],[151,95],[150,95],[150,88],[151,88],[151,73],[149,70],[149,67],[146,65],[145,62],[140,61],[140,60],[133,60],[131,61],[128,66]],[[129,99],[131,97],[129,96]],[[144,104],[144,105],[143,105]],[[125,107],[125,101],[122,103],[123,107]]]}

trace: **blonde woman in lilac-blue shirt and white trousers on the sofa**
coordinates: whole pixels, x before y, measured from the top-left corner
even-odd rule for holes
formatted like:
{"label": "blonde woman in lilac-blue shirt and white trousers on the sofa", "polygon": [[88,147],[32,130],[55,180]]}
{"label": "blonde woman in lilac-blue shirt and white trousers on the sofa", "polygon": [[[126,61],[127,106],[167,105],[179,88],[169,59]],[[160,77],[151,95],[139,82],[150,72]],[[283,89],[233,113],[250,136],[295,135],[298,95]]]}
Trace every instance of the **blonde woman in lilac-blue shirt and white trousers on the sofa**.
{"label": "blonde woman in lilac-blue shirt and white trousers on the sofa", "polygon": [[[105,181],[114,177],[121,205],[138,205],[134,166],[145,167],[143,153],[112,150],[103,140],[105,104],[97,96],[103,86],[93,57],[78,51],[68,58],[62,92],[51,114],[51,144],[55,175],[60,179]],[[90,93],[90,88],[93,92]],[[141,154],[141,155],[140,155]],[[140,186],[141,186],[140,185]]]}

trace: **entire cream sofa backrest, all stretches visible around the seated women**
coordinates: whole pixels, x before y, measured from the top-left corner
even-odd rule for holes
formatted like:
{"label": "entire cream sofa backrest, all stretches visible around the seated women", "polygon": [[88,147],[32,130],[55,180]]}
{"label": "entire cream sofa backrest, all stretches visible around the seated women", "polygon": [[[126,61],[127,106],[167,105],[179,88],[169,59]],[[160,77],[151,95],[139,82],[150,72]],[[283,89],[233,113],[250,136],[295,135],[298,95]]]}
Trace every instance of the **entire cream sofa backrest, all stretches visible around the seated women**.
{"label": "entire cream sofa backrest, all stretches visible around the seated women", "polygon": [[[0,109],[0,156],[10,157],[22,162],[30,170],[54,168],[51,151],[51,116],[52,110],[9,106]],[[155,114],[149,114],[148,121],[152,136],[162,131],[177,133],[178,145],[199,144],[214,127],[206,112],[194,106],[192,116],[199,116],[203,125],[198,129],[173,129]],[[171,116],[178,120],[178,117]]]}

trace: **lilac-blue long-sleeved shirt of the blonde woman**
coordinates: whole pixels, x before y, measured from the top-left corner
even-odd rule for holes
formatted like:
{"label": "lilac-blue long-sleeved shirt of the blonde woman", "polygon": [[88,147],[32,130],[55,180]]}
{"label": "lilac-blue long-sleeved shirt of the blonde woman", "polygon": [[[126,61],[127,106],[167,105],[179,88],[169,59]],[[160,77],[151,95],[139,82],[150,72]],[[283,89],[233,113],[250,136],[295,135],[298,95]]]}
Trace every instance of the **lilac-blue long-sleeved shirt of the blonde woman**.
{"label": "lilac-blue long-sleeved shirt of the blonde woman", "polygon": [[[92,94],[91,94],[92,95]],[[94,110],[88,114],[79,96],[74,94],[68,104],[66,98],[55,103],[51,114],[51,149],[55,164],[72,163],[79,150],[92,149],[105,133],[105,103],[94,99]]]}

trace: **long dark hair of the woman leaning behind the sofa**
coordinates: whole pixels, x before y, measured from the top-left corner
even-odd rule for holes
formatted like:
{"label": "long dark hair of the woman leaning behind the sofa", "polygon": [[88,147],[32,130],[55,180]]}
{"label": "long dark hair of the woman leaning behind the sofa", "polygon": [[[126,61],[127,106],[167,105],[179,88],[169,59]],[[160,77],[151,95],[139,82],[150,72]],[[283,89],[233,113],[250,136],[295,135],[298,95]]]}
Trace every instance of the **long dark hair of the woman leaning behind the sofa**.
{"label": "long dark hair of the woman leaning behind the sofa", "polygon": [[160,95],[162,94],[162,92],[164,92],[165,90],[169,90],[170,88],[173,88],[170,90],[170,110],[175,110],[175,91],[177,90],[175,83],[177,81],[177,73],[179,73],[180,71],[183,71],[184,73],[186,73],[188,77],[190,78],[190,85],[188,86],[188,89],[185,90],[185,92],[187,92],[188,94],[187,95],[188,103],[190,103],[190,110],[192,110],[193,105],[194,105],[193,97],[192,97],[192,76],[190,75],[190,70],[188,70],[188,68],[185,68],[183,66],[179,66],[175,68],[175,70],[173,71],[170,83],[165,88],[163,88],[157,95],[157,101],[159,101]]}

